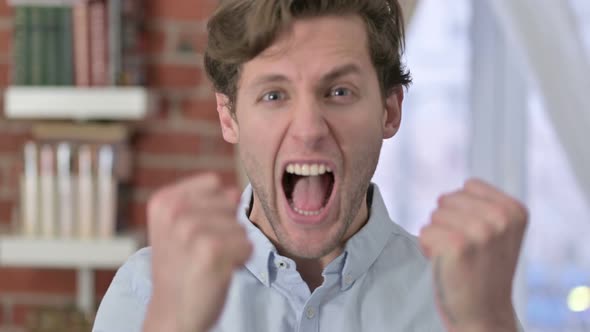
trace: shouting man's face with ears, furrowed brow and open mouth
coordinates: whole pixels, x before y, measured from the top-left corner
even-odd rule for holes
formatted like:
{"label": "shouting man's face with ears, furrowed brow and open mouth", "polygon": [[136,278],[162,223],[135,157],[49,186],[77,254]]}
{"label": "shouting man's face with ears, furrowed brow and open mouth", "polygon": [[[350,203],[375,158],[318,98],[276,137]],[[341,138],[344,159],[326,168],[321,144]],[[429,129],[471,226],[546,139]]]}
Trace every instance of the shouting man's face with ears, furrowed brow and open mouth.
{"label": "shouting man's face with ears, furrowed brow and open mouth", "polygon": [[286,254],[338,252],[368,217],[403,93],[382,97],[367,45],[360,17],[298,20],[242,66],[235,119],[217,95],[224,138],[254,188],[250,219]]}

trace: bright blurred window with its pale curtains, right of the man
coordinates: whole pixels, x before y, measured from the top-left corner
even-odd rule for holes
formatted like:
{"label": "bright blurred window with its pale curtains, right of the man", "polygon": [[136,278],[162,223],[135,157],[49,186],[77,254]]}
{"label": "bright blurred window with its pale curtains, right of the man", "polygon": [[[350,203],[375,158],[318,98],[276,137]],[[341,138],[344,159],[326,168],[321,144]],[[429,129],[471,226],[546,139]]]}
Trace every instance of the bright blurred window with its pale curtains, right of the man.
{"label": "bright blurred window with its pale curtains, right of the man", "polygon": [[496,184],[530,210],[515,282],[526,330],[590,331],[590,2],[414,5],[414,84],[374,178],[393,220],[417,234],[441,192]]}

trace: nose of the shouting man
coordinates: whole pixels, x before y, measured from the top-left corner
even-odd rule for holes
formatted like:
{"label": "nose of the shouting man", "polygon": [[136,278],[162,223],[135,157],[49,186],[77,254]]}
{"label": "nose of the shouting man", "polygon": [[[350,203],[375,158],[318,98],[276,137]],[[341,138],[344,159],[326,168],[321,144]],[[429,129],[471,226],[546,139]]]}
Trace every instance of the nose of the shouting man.
{"label": "nose of the shouting man", "polygon": [[290,135],[306,148],[317,148],[330,132],[320,103],[309,98],[297,103],[292,110]]}

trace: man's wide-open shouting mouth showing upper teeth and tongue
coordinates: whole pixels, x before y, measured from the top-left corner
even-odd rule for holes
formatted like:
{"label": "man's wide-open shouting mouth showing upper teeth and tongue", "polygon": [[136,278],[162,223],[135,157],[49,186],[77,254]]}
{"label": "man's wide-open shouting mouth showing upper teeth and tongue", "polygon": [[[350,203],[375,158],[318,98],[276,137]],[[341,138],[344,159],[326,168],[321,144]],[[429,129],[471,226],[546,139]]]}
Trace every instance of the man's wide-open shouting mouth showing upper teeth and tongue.
{"label": "man's wide-open shouting mouth showing upper teeth and tongue", "polygon": [[334,189],[332,169],[322,163],[290,163],[283,173],[283,191],[291,209],[301,216],[320,215]]}

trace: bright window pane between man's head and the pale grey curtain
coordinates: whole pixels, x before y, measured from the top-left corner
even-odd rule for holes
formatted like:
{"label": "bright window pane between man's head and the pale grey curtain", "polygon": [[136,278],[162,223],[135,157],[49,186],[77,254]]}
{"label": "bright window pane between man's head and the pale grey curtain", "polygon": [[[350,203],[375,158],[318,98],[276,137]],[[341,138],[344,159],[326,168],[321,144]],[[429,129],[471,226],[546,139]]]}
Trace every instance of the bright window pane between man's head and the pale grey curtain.
{"label": "bright window pane between man's head and the pale grey curtain", "polygon": [[407,30],[414,83],[400,131],[384,142],[373,181],[392,219],[414,234],[438,196],[467,177],[469,10],[467,0],[422,0]]}

